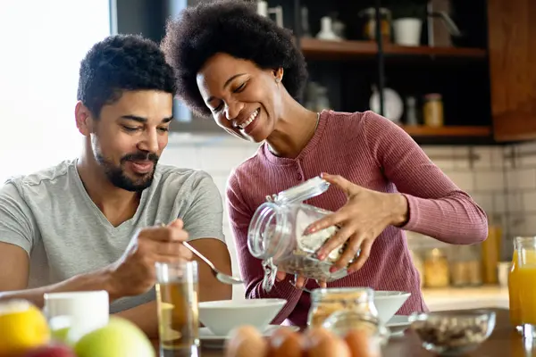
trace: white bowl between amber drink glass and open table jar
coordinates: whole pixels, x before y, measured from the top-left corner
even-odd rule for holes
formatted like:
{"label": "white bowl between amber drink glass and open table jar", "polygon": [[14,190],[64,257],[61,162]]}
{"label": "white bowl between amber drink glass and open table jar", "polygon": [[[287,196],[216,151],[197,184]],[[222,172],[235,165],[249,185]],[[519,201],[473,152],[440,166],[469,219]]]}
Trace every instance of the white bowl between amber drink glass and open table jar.
{"label": "white bowl between amber drink glass and open table jar", "polygon": [[242,325],[264,331],[285,303],[284,299],[204,302],[199,303],[199,320],[216,336],[227,336],[233,328]]}

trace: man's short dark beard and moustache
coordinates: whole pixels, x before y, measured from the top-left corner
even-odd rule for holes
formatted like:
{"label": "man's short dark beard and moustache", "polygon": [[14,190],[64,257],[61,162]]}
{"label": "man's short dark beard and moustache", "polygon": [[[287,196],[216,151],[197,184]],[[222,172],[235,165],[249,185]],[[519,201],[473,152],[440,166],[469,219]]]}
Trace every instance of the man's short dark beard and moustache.
{"label": "man's short dark beard and moustache", "polygon": [[[153,171],[138,175],[138,179],[130,179],[124,172],[122,165],[128,161],[142,161],[149,160],[154,163]],[[115,166],[112,162],[108,161],[102,154],[96,154],[96,162],[100,163],[105,169],[106,177],[112,182],[113,186],[122,188],[131,192],[140,192],[150,187],[155,177],[156,163],[158,162],[158,155],[152,153],[139,152],[136,154],[128,154],[121,158],[119,166]]]}

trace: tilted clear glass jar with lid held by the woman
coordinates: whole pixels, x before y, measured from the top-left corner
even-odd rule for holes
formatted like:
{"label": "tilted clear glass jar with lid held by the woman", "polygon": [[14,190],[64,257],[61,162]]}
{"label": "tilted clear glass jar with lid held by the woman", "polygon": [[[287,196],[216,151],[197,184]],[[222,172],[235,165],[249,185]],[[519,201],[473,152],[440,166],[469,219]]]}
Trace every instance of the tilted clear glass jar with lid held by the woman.
{"label": "tilted clear glass jar with lid held by the woman", "polygon": [[255,258],[263,260],[265,291],[272,289],[277,270],[327,282],[348,274],[344,269],[330,272],[346,243],[339,245],[323,261],[315,256],[339,227],[304,234],[311,223],[332,213],[304,201],[322,195],[329,187],[326,180],[315,177],[278,195],[266,196],[267,202],[256,209],[247,231],[247,247]]}

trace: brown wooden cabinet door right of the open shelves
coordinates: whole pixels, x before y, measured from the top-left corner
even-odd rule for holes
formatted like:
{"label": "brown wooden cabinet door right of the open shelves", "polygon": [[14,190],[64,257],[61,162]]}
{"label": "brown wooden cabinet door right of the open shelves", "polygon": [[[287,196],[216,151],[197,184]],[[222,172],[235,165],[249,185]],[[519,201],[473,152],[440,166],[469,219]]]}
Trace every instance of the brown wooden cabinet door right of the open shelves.
{"label": "brown wooden cabinet door right of the open shelves", "polygon": [[536,1],[488,0],[491,115],[497,141],[536,138]]}

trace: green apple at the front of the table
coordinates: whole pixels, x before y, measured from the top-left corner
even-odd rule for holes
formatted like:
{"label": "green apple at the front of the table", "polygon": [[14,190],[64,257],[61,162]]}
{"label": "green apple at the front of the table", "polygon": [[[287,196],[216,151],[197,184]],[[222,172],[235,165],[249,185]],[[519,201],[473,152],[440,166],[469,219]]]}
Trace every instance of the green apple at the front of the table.
{"label": "green apple at the front of the table", "polygon": [[155,357],[155,348],[143,331],[129,320],[110,317],[103,327],[89,332],[74,345],[78,357]]}

